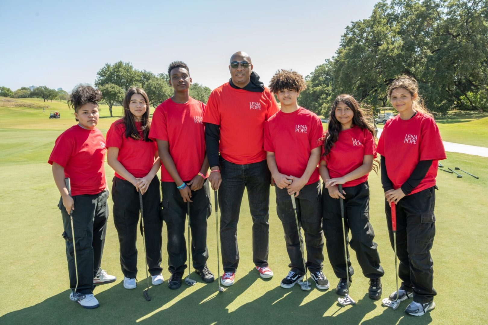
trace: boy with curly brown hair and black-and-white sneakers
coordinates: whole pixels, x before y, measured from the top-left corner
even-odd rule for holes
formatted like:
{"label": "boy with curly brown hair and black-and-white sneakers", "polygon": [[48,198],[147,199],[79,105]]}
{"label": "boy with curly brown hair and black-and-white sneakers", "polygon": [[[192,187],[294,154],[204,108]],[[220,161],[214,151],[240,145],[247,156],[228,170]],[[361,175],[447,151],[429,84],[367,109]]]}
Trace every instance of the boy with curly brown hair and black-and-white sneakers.
{"label": "boy with curly brown hair and black-and-white sneakers", "polygon": [[[306,266],[317,288],[325,290],[329,282],[322,272],[322,194],[317,168],[324,130],[316,114],[297,104],[305,88],[303,76],[294,71],[281,70],[271,79],[269,89],[277,95],[281,110],[265,123],[264,150],[276,184],[276,210],[283,223],[291,262],[291,269],[280,285],[291,288],[303,278]],[[305,231],[306,265],[290,195],[296,197],[298,221]]]}

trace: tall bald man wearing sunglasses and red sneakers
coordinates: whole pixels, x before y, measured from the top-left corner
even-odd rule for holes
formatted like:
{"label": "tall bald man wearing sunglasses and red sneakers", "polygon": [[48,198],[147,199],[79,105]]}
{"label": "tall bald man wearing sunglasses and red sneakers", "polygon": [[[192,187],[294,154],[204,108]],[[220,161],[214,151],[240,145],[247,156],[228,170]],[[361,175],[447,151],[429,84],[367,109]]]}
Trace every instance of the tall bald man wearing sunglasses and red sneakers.
{"label": "tall bald man wearing sunglasses and red sneakers", "polygon": [[208,181],[212,189],[219,191],[221,209],[221,283],[227,286],[234,284],[239,265],[237,222],[244,188],[253,222],[253,262],[262,278],[273,276],[267,261],[271,175],[263,142],[264,122],[278,111],[278,104],[252,69],[247,53],[234,53],[229,63],[229,82],[212,91],[203,114],[211,169]]}

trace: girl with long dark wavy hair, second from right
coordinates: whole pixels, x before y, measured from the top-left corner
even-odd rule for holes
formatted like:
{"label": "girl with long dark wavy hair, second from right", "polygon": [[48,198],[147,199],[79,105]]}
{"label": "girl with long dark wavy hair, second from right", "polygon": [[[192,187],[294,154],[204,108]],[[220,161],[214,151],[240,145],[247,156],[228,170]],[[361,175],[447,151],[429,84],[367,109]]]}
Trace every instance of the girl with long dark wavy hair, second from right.
{"label": "girl with long dark wavy hair, second from right", "polygon": [[[367,177],[371,169],[378,170],[375,158],[374,129],[366,117],[366,112],[361,109],[354,97],[346,94],[337,96],[330,110],[324,153],[319,167],[324,180],[322,191],[326,192],[322,195],[322,203],[327,254],[335,275],[340,279],[336,292],[346,295],[346,269],[350,282],[354,269],[349,262],[347,247],[347,267],[344,261],[345,247],[338,200],[342,198],[346,235],[350,229],[350,246],[356,252],[364,276],[370,279],[368,295],[373,300],[381,297],[381,277],[385,274],[380,265],[378,245],[373,242],[373,227],[369,223]],[[338,190],[338,184],[343,185],[342,193]]]}

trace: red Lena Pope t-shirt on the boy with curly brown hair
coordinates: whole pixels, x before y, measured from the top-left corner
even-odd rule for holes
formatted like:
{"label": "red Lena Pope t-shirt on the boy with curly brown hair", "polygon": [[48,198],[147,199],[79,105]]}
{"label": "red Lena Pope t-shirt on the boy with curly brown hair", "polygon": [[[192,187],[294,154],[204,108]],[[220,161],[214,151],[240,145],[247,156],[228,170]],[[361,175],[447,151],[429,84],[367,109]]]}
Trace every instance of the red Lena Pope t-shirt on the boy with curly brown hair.
{"label": "red Lena Pope t-shirt on the boy with curly brown hair", "polygon": [[[310,152],[322,145],[324,129],[319,117],[299,107],[292,113],[278,111],[264,124],[264,150],[274,152],[278,171],[294,177],[302,177]],[[306,183],[319,181],[319,169]]]}

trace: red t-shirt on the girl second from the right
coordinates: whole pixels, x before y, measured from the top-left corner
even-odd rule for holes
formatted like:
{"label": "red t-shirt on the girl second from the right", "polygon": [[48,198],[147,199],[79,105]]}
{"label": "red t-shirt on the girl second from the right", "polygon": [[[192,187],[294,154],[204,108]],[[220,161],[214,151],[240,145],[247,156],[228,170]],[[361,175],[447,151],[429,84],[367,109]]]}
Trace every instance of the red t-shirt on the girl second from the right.
{"label": "red t-shirt on the girl second from the right", "polygon": [[[360,167],[366,155],[373,155],[373,158],[376,158],[376,142],[368,129],[354,125],[350,129],[339,132],[339,138],[332,145],[329,154],[322,156],[322,160],[327,165],[330,178],[336,178],[343,177]],[[369,173],[342,186],[351,187],[364,183],[368,175]]]}

